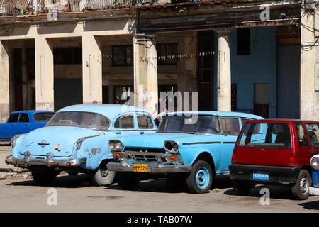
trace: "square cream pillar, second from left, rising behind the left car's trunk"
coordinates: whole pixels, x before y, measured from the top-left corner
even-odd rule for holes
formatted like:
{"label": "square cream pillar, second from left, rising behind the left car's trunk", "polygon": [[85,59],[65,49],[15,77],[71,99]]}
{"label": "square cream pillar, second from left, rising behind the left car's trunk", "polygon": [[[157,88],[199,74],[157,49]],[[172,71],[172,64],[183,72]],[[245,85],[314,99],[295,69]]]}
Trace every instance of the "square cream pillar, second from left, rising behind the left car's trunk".
{"label": "square cream pillar, second from left, rising behind the left car's trunk", "polygon": [[54,67],[52,40],[35,38],[35,108],[54,110]]}

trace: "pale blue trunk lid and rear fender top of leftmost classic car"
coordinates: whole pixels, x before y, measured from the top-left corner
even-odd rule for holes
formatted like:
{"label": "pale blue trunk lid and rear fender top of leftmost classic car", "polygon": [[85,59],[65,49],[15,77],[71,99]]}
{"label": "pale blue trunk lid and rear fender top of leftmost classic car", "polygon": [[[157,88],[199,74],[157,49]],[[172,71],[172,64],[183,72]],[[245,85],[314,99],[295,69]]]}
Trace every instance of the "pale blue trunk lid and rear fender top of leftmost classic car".
{"label": "pale blue trunk lid and rear fender top of leftmost classic car", "polygon": [[30,155],[45,156],[52,153],[56,157],[69,157],[79,138],[103,135],[101,131],[73,126],[46,126],[31,131],[23,138],[21,155],[27,150]]}

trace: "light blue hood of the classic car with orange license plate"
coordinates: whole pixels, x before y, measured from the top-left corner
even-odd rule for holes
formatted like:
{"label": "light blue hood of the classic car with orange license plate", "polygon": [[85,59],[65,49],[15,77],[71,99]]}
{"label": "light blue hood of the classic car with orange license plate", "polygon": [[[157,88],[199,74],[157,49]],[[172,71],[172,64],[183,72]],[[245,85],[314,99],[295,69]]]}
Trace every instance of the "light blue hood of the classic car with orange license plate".
{"label": "light blue hood of the classic car with orange license plate", "polygon": [[165,140],[174,140],[179,143],[204,142],[212,135],[196,135],[189,133],[154,133],[150,135],[138,135],[118,138],[125,147],[130,148],[163,148]]}

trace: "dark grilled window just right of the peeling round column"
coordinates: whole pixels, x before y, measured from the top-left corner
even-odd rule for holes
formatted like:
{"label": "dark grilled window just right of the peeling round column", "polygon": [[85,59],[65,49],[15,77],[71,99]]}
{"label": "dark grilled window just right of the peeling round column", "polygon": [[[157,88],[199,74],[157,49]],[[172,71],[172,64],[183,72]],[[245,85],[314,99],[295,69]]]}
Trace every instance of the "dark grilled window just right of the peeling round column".
{"label": "dark grilled window just right of the peeling round column", "polygon": [[177,65],[178,43],[157,44],[157,64]]}

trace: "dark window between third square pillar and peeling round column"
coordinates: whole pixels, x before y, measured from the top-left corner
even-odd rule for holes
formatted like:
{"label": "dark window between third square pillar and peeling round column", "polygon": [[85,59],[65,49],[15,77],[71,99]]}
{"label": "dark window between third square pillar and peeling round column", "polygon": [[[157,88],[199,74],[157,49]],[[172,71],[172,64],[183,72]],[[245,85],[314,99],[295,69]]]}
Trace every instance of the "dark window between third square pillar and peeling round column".
{"label": "dark window between third square pillar and peeling round column", "polygon": [[113,45],[112,46],[113,66],[133,65],[133,45]]}

